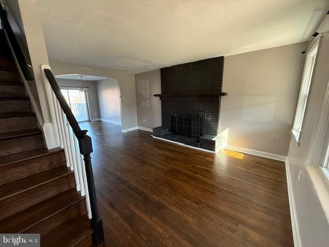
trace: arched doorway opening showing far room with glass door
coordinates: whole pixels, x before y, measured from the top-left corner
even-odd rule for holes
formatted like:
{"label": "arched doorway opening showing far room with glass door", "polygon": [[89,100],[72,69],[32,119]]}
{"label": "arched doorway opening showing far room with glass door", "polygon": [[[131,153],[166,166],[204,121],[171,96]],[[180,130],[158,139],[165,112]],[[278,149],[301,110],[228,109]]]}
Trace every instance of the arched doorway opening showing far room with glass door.
{"label": "arched doorway opening showing far room with glass door", "polygon": [[107,121],[121,126],[117,80],[96,75],[59,75],[56,80],[78,122]]}

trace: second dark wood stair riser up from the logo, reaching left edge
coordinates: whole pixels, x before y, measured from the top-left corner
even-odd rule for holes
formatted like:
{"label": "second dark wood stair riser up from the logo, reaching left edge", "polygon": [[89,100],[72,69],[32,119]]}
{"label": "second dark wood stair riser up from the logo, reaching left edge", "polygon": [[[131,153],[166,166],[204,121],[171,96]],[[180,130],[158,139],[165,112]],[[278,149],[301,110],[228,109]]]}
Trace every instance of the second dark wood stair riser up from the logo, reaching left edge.
{"label": "second dark wood stair riser up from the logo, reaching left edge", "polygon": [[0,200],[0,220],[76,186],[73,173]]}

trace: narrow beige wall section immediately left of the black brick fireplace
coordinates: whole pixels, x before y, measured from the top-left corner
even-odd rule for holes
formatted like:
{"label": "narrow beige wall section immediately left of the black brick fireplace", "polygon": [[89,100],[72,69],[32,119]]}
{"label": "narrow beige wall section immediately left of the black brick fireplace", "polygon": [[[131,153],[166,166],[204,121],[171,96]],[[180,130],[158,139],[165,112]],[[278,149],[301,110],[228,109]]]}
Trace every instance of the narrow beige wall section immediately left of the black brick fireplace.
{"label": "narrow beige wall section immediately left of the black brick fireplace", "polygon": [[161,93],[160,69],[135,75],[138,126],[161,126],[161,101],[154,94]]}

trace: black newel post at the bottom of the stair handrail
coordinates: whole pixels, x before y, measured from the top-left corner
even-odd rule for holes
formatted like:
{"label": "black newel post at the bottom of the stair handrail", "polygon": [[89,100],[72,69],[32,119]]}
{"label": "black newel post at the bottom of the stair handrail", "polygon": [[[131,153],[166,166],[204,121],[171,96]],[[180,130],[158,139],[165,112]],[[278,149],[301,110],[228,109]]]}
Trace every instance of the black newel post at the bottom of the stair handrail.
{"label": "black newel post at the bottom of the stair handrail", "polygon": [[90,153],[93,152],[92,138],[87,135],[87,130],[81,130],[79,133],[80,153],[83,155],[83,160],[85,163],[88,193],[90,199],[90,209],[92,210],[92,220],[90,221],[90,224],[94,229],[95,243],[99,244],[104,241],[104,233],[103,223],[101,218],[99,217],[93,167],[90,157]]}

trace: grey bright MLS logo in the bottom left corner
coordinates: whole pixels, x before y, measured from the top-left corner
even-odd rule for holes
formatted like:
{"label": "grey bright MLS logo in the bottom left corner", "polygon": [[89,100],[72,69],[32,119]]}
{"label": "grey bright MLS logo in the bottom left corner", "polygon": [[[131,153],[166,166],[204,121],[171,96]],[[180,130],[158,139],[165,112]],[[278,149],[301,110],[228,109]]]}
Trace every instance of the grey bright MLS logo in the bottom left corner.
{"label": "grey bright MLS logo in the bottom left corner", "polygon": [[40,247],[40,234],[0,234],[0,247]]}

